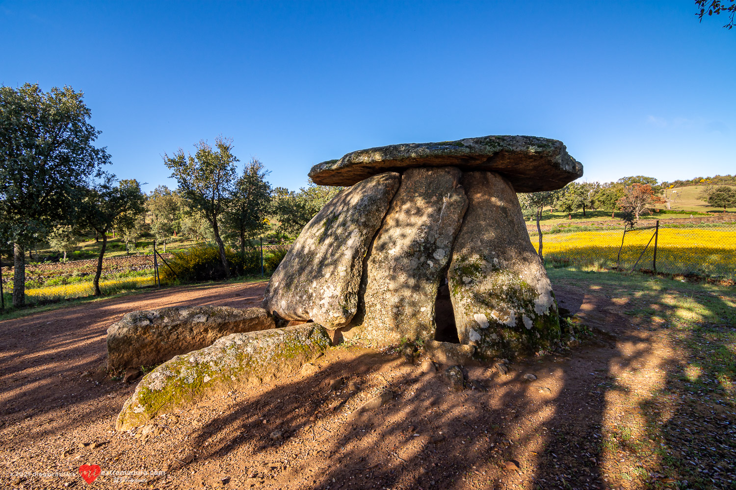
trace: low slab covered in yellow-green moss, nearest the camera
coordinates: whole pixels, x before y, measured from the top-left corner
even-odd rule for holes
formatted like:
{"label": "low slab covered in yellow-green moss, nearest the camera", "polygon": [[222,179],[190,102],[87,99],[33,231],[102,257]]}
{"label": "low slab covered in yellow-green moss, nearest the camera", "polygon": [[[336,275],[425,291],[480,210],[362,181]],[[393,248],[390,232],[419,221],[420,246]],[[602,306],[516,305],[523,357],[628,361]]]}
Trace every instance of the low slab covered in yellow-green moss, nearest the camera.
{"label": "low slab covered in yellow-green moss, nearest the camera", "polygon": [[236,386],[297,372],[329,346],[327,331],[316,323],[224,336],[149,372],[125,402],[115,428],[128,430]]}

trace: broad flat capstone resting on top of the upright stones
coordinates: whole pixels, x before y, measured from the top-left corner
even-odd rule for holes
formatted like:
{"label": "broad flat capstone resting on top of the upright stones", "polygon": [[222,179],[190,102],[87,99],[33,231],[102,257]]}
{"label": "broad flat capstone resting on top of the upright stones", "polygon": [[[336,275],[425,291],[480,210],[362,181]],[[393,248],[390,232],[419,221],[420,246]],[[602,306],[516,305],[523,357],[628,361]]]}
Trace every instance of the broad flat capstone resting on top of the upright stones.
{"label": "broad flat capstone resting on top of the upright stones", "polygon": [[317,184],[353,185],[383,172],[408,167],[458,167],[505,176],[516,192],[555,190],[583,175],[583,166],[559,140],[534,136],[481,136],[442,143],[403,143],[353,151],[314,165]]}

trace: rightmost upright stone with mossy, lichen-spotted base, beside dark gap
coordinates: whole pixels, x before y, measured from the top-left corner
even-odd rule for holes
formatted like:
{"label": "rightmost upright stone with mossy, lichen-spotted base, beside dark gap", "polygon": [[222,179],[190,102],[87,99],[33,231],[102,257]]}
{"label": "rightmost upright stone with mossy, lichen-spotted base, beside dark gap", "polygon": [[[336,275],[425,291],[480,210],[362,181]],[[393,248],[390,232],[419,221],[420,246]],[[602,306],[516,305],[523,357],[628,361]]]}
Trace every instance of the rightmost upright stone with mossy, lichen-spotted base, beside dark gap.
{"label": "rightmost upright stone with mossy, lichen-spotted base, beside dark gap", "polygon": [[559,338],[552,284],[514,187],[485,171],[464,173],[462,185],[468,209],[447,274],[460,342],[491,357]]}

